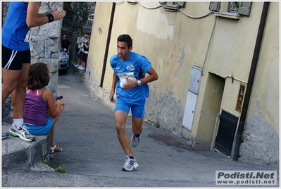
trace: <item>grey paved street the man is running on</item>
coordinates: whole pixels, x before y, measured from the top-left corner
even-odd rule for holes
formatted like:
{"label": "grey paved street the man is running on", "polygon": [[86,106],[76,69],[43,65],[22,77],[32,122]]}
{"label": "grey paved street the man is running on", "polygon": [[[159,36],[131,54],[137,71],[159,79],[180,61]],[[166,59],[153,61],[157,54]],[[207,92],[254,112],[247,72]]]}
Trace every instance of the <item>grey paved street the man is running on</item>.
{"label": "grey paved street the man is running on", "polygon": [[[132,147],[139,167],[131,172],[121,171],[125,153],[118,142],[113,109],[89,92],[79,76],[81,73],[76,71],[69,70],[58,77],[58,96],[63,96],[65,109],[56,123],[55,141],[63,152],[55,153],[51,163],[65,166],[66,173],[47,170],[38,166],[39,163],[28,169],[2,168],[2,187],[279,187],[279,165],[232,161],[218,152],[199,151],[170,131],[148,123],[144,123],[139,145]],[[128,118],[129,138],[131,124],[132,119]],[[219,170],[277,171],[277,185],[218,185],[216,171]]]}

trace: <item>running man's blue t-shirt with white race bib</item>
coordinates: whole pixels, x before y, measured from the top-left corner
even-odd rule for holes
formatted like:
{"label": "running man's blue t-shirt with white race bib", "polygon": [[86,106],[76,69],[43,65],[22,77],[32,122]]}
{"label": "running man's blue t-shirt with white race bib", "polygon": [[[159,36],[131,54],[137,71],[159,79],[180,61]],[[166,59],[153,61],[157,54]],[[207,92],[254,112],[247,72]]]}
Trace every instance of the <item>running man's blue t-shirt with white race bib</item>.
{"label": "running man's blue t-shirt with white race bib", "polygon": [[116,97],[125,97],[131,100],[141,100],[149,97],[149,85],[147,83],[137,85],[130,90],[125,90],[121,87],[126,78],[128,80],[139,80],[142,73],[149,71],[151,68],[149,59],[130,51],[129,59],[126,61],[119,59],[118,54],[115,54],[111,56],[109,62],[117,78]]}

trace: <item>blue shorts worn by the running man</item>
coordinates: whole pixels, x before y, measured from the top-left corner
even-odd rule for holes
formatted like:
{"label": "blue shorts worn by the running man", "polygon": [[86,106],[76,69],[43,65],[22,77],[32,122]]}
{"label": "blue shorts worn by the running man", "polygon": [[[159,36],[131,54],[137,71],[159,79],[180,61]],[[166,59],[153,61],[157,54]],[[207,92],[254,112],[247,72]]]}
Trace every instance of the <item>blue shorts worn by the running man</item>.
{"label": "blue shorts worn by the running man", "polygon": [[143,118],[145,112],[145,102],[145,99],[132,101],[130,99],[124,99],[123,97],[118,97],[114,111],[122,110],[129,114],[131,109],[133,117]]}

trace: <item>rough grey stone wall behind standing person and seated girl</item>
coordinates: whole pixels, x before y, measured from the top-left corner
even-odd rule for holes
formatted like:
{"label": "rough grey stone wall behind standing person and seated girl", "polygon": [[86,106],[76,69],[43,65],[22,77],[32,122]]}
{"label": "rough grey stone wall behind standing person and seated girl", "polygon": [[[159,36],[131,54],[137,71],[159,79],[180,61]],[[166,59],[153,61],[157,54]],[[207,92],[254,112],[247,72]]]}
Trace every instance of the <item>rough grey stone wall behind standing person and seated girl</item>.
{"label": "rough grey stone wall behind standing person and seated girl", "polygon": [[[6,11],[8,10],[8,2],[2,4],[3,7],[3,20],[6,18]],[[63,2],[48,2],[42,1],[39,8],[39,13],[49,13],[51,8],[58,7],[58,10],[63,8]],[[47,23],[45,25],[33,28],[33,38],[30,42],[31,51],[31,64],[33,63],[46,63],[49,67],[51,80],[49,85],[46,86],[54,93],[54,100],[57,96],[58,85],[58,64],[59,64],[59,47],[61,43],[61,25],[63,20]],[[4,22],[3,22],[4,24]],[[4,106],[2,106],[2,121],[11,122],[11,118],[8,118],[11,111],[11,95],[6,100]]]}

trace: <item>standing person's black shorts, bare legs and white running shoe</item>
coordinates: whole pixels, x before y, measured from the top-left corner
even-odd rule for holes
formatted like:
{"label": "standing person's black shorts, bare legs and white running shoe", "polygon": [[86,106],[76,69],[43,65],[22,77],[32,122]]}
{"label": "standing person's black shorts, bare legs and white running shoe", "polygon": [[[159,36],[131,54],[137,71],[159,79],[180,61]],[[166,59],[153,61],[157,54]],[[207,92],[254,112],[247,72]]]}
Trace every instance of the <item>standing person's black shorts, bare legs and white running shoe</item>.
{"label": "standing person's black shorts, bare legs and white running shoe", "polygon": [[9,133],[25,141],[34,141],[23,123],[23,106],[28,73],[30,71],[30,49],[14,51],[2,46],[2,104],[12,92],[13,124]]}

